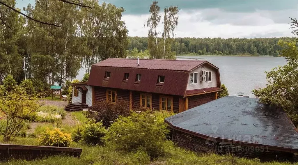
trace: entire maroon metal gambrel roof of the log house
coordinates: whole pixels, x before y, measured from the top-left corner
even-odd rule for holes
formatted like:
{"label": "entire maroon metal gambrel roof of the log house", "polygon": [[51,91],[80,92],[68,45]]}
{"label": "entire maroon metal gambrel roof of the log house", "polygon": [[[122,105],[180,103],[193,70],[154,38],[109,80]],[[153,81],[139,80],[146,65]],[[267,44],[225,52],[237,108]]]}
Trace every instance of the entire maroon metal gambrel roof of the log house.
{"label": "entire maroon metal gambrel roof of the log house", "polygon": [[[92,65],[88,85],[184,96],[190,71],[205,63],[215,67],[198,60],[140,59],[138,66],[137,59],[109,58]],[[106,71],[111,74],[104,80]],[[127,81],[123,81],[125,73],[129,73]],[[137,74],[141,81],[135,83]],[[164,83],[157,82],[158,76],[165,76]]]}

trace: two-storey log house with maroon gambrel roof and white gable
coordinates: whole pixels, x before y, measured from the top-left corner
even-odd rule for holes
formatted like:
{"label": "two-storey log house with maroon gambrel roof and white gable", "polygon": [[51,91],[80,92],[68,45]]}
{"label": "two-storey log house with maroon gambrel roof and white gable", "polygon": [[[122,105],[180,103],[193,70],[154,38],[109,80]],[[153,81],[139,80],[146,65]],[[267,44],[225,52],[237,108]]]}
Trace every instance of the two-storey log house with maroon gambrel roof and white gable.
{"label": "two-storey log house with maroon gambrel roof and white gable", "polygon": [[142,107],[183,112],[217,99],[219,69],[204,60],[109,58],[92,65],[88,82],[74,83],[73,103],[126,100]]}

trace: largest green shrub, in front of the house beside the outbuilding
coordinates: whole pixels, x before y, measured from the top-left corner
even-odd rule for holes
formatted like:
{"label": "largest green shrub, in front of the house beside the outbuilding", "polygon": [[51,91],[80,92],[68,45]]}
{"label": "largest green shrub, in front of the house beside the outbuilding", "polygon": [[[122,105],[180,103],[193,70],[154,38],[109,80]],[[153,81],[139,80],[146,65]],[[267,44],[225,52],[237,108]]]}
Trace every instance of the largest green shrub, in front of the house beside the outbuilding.
{"label": "largest green shrub, in front of the house beside the outbuilding", "polygon": [[108,128],[106,139],[113,141],[119,150],[143,150],[151,158],[162,156],[169,133],[164,118],[171,115],[165,111],[145,111],[121,116]]}

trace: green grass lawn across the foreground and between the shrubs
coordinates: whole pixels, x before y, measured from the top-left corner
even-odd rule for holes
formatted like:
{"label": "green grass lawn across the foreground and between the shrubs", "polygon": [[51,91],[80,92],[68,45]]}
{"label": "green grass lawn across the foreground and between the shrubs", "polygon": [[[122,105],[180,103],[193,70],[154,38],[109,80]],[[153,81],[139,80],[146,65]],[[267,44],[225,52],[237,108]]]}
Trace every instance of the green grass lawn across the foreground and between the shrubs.
{"label": "green grass lawn across the foreground and between the shrubs", "polygon": [[[81,123],[87,121],[83,115],[83,111],[71,112],[72,116],[79,120]],[[49,123],[42,123],[35,128],[34,133],[38,137],[41,133],[45,132],[47,128],[54,128],[55,125]],[[62,125],[60,129],[64,133],[72,133],[75,126]],[[3,136],[0,136],[0,143],[3,142]],[[38,138],[30,137],[16,137],[10,144],[22,145],[38,145]],[[25,160],[11,160],[9,162],[0,162],[0,164],[38,164],[38,165],[85,165],[85,164],[150,164],[150,165],[172,165],[172,164],[204,164],[204,165],[219,165],[219,164],[248,164],[248,165],[289,165],[289,162],[260,162],[257,159],[238,158],[233,155],[216,155],[216,154],[202,154],[173,145],[172,141],[165,141],[165,154],[162,157],[151,160],[147,154],[143,152],[122,152],[116,149],[114,144],[108,142],[104,146],[91,146],[84,143],[71,142],[69,147],[82,148],[80,158],[73,158],[69,156],[49,156],[32,161]]]}

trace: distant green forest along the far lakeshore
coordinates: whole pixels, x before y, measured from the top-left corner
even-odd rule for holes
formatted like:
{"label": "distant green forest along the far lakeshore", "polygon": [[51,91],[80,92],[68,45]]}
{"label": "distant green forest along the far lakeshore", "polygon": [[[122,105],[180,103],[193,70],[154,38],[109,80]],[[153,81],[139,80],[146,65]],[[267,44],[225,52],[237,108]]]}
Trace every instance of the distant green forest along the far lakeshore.
{"label": "distant green forest along the far lakeshore", "polygon": [[[154,37],[128,37],[128,40],[130,41],[127,48],[128,52],[133,48],[137,48],[140,52],[156,47]],[[293,38],[171,38],[171,40],[170,51],[175,52],[176,55],[278,56],[278,52],[282,50],[278,41],[291,41]],[[163,41],[158,40],[159,42]]]}

